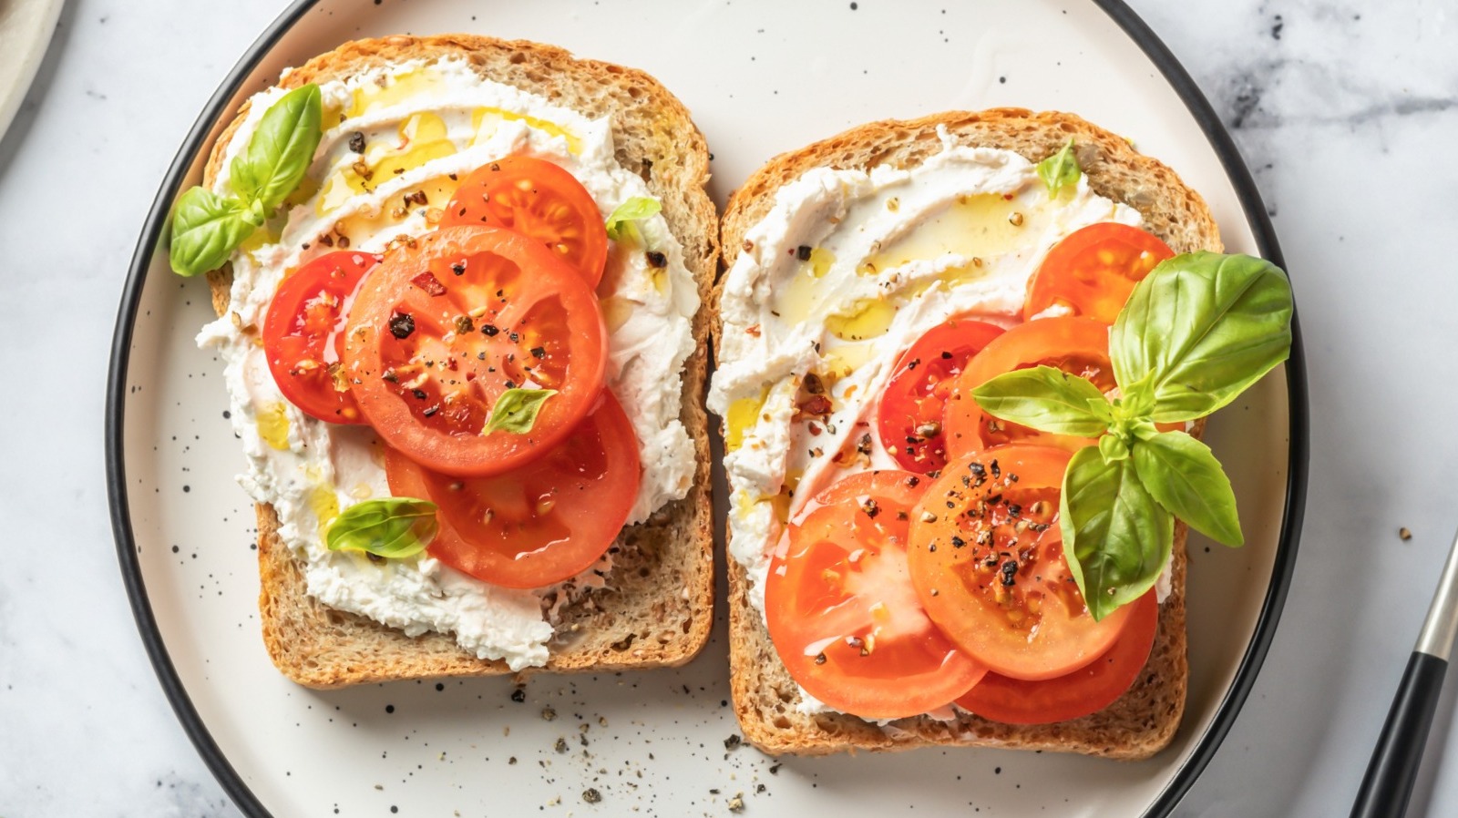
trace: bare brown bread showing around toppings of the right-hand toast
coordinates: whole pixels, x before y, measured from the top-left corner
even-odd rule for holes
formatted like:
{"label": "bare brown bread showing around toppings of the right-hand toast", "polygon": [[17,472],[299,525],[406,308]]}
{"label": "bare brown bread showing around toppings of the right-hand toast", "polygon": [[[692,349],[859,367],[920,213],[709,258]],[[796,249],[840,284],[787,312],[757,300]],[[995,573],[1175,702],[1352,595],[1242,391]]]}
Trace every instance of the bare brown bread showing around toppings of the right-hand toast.
{"label": "bare brown bread showing around toppings of the right-hand toast", "polygon": [[[1175,252],[1222,249],[1219,230],[1200,195],[1185,187],[1174,171],[1134,152],[1127,140],[1069,114],[1000,108],[870,122],[771,159],[735,191],[725,210],[720,232],[725,267],[733,265],[745,232],[770,211],[774,192],[781,185],[818,166],[916,166],[942,149],[936,133],[939,125],[958,144],[1013,150],[1031,162],[1059,152],[1073,137],[1079,165],[1095,192],[1139,210],[1145,227]],[[716,289],[714,315],[719,296],[720,289]],[[722,330],[722,324],[716,324],[716,346]],[[1198,436],[1201,429],[1203,420],[1193,433]],[[843,713],[799,712],[799,687],[776,655],[763,614],[749,605],[748,573],[738,561],[726,560],[730,687],[745,739],[765,752],[802,755],[975,745],[1111,758],[1149,757],[1169,744],[1184,712],[1188,675],[1185,538],[1185,525],[1177,523],[1172,592],[1161,605],[1155,646],[1134,685],[1098,713],[1031,726],[1005,725],[964,713],[949,722],[917,716],[882,728]]]}

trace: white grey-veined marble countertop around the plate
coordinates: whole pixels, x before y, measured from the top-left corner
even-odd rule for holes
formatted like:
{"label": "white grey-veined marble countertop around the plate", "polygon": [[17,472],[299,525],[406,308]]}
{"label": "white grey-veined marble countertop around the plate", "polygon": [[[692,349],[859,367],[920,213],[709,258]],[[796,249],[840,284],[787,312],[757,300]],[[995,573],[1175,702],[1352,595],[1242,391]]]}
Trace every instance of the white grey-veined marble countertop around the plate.
{"label": "white grey-veined marble countertop around the plate", "polygon": [[[26,464],[0,471],[0,817],[238,815],[133,623],[106,512],[102,395],[141,214],[198,108],[281,6],[73,0],[0,141],[12,330],[0,356],[25,373],[12,375],[0,435],[4,461]],[[1131,6],[1255,174],[1311,376],[1295,582],[1250,701],[1177,815],[1344,815],[1458,525],[1458,433],[1433,411],[1458,405],[1458,356],[1446,354],[1458,276],[1443,261],[1458,32],[1438,0]],[[32,432],[41,417],[58,432]],[[1458,814],[1455,700],[1458,682],[1414,796],[1432,815]]]}

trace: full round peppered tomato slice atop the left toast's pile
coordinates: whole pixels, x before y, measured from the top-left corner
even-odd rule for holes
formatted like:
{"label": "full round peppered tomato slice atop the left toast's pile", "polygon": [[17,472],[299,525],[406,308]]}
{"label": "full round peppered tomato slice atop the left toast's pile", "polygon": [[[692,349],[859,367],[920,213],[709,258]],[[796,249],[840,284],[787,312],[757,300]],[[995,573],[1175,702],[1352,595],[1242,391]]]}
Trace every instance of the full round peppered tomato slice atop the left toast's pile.
{"label": "full round peppered tomato slice atop the left toast's pile", "polygon": [[[561,442],[598,400],[607,328],[592,289],[547,248],[497,227],[442,227],[360,284],[344,372],[392,448],[487,477]],[[525,433],[486,432],[512,388],[555,389]]]}

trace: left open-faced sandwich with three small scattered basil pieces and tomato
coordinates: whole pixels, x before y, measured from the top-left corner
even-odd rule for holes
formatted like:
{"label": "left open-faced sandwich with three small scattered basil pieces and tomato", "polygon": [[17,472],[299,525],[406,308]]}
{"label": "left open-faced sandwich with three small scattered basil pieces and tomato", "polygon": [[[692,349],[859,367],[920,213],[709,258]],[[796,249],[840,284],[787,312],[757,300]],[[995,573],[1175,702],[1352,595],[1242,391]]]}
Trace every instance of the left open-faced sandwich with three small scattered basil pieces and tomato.
{"label": "left open-faced sandwich with three small scattered basil pieces and tomato", "polygon": [[531,42],[350,42],[243,104],[171,257],[210,273],[289,678],[698,652],[707,160],[656,80]]}

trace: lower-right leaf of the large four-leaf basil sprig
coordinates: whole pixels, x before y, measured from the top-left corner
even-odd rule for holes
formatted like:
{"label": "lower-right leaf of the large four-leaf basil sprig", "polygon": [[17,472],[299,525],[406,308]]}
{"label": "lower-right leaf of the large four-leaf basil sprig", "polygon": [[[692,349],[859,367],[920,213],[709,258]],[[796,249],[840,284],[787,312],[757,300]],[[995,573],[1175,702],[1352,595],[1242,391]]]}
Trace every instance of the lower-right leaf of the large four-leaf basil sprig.
{"label": "lower-right leaf of the large four-leaf basil sprig", "polygon": [[1140,483],[1169,513],[1216,542],[1245,542],[1231,478],[1210,446],[1184,432],[1162,432],[1134,443],[1133,458]]}

